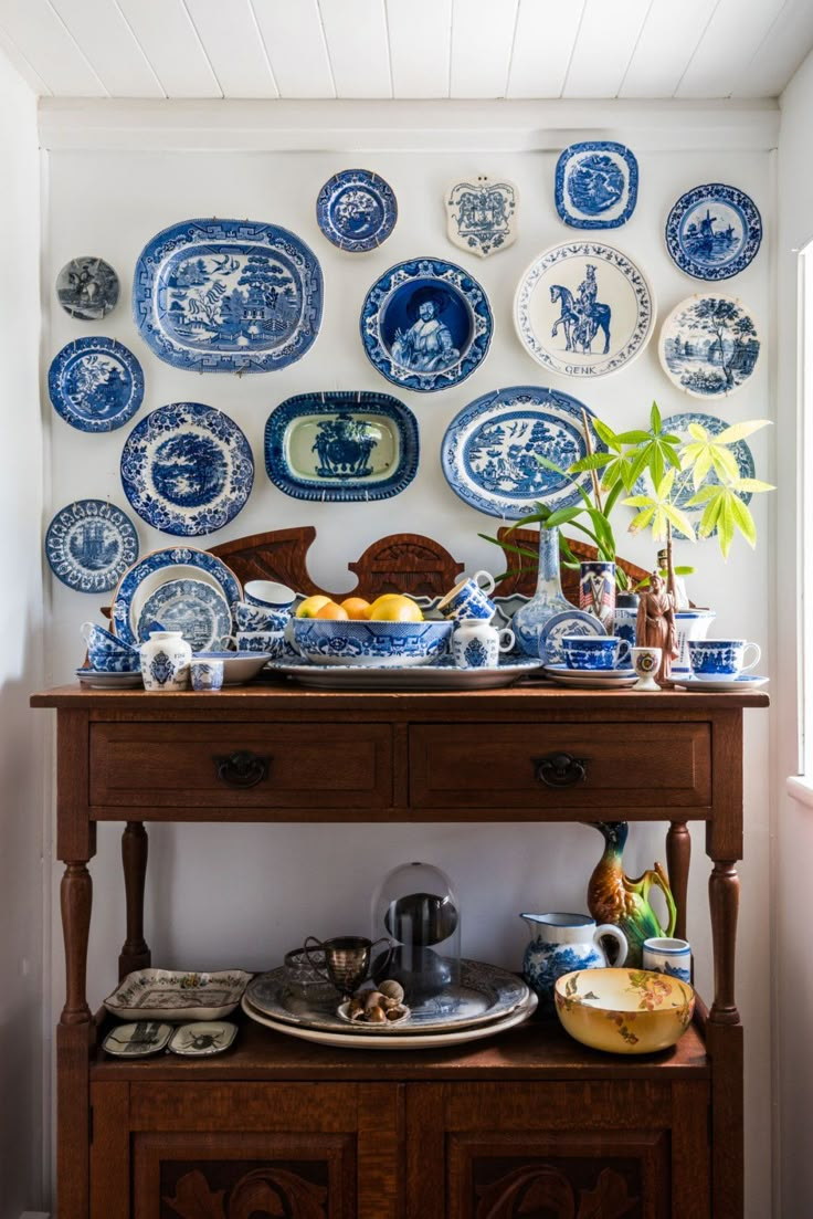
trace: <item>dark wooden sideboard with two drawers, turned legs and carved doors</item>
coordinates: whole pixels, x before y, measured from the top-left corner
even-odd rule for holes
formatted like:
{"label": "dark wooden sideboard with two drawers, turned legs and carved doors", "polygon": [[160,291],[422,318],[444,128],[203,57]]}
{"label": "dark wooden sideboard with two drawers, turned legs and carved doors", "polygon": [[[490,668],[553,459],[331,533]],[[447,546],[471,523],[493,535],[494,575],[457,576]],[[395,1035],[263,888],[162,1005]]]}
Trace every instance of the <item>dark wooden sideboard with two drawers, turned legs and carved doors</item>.
{"label": "dark wooden sideboard with two drawers, turned legs and carved doors", "polygon": [[[32,703],[57,712],[60,1219],[740,1219],[742,712],[768,706],[764,695],[66,686]],[[235,753],[256,759],[255,786],[223,768]],[[551,753],[584,759],[585,781],[546,786]],[[126,1062],[99,1048],[106,1018],[85,993],[98,822],[124,823],[123,975],[150,963],[149,822],[600,817],[668,823],[679,935],[689,823],[706,825],[714,996],[673,1051],[601,1054],[541,1022],[411,1053],[339,1051],[250,1023],[213,1059]]]}

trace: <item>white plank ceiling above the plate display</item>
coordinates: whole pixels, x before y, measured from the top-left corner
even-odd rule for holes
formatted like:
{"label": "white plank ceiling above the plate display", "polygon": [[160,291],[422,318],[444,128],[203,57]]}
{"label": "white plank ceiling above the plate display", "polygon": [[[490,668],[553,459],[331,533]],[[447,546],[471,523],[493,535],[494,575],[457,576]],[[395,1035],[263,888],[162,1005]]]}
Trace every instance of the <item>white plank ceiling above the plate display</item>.
{"label": "white plank ceiling above the plate display", "polygon": [[0,0],[59,98],[773,98],[813,0]]}

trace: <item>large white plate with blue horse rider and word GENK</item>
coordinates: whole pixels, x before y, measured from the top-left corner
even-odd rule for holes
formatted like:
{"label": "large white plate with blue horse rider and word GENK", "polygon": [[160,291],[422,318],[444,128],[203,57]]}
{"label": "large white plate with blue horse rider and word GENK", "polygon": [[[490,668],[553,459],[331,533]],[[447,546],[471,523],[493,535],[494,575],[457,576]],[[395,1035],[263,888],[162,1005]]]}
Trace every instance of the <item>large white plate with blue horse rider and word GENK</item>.
{"label": "large white plate with blue horse rider and word GENK", "polygon": [[564,377],[603,377],[640,356],[655,296],[620,250],[568,241],[540,254],[514,296],[514,325],[534,360]]}

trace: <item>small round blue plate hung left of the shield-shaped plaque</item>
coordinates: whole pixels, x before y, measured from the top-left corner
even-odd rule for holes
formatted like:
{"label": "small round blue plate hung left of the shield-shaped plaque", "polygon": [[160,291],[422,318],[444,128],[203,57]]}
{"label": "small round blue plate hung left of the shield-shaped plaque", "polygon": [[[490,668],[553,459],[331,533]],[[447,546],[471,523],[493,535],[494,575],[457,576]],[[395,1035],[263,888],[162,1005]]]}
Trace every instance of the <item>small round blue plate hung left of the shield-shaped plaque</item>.
{"label": "small round blue plate hung left of the shield-shaped plaque", "polygon": [[375,250],[395,228],[399,205],[392,188],[369,169],[343,169],[325,182],[316,201],[316,222],[340,250]]}

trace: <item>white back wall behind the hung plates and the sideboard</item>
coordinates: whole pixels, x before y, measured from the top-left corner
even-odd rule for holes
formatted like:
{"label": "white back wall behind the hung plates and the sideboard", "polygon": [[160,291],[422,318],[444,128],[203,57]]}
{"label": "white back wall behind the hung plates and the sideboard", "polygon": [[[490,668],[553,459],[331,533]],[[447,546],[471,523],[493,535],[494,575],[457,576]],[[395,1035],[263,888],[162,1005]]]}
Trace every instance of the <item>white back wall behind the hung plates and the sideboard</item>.
{"label": "white back wall behind the hung plates and the sideboard", "polygon": [[[219,105],[219,104],[218,104]],[[478,539],[494,531],[497,521],[464,506],[446,486],[438,451],[450,419],[475,396],[500,385],[551,384],[584,399],[617,425],[646,425],[656,397],[664,413],[691,410],[700,403],[680,394],[662,373],[656,341],[629,368],[617,375],[580,384],[550,377],[524,352],[512,324],[517,282],[535,254],[570,235],[553,207],[553,168],[557,151],[575,139],[591,137],[613,122],[616,107],[588,107],[574,124],[573,107],[525,107],[517,130],[509,128],[502,104],[469,111],[456,107],[455,130],[445,123],[450,113],[433,108],[433,130],[410,144],[403,129],[384,132],[382,108],[356,108],[357,129],[336,133],[328,116],[312,111],[312,126],[294,137],[284,121],[266,119],[264,130],[238,123],[208,126],[211,110],[185,107],[184,123],[172,123],[178,111],[163,110],[166,127],[139,110],[127,119],[126,107],[115,111],[52,105],[45,115],[49,156],[49,213],[45,240],[45,282],[51,285],[71,257],[98,254],[117,268],[122,302],[99,327],[72,321],[49,291],[50,343],[48,357],[71,339],[104,333],[126,343],[141,361],[146,396],[141,417],[172,400],[197,400],[230,414],[249,436],[256,462],[255,489],[246,508],[224,530],[204,539],[217,544],[271,528],[314,524],[312,574],[333,588],[350,586],[346,564],[373,539],[397,530],[425,533],[441,540],[468,568],[495,566],[495,551]],[[423,107],[421,113],[425,113]],[[261,110],[275,116],[291,111]],[[410,107],[400,107],[410,115]],[[418,113],[416,108],[414,113]],[[84,126],[84,117],[88,124]],[[127,119],[117,134],[116,116]],[[734,110],[718,108],[708,121],[697,107],[630,106],[625,121],[603,134],[627,140],[639,155],[640,197],[633,219],[607,240],[627,251],[645,269],[658,301],[661,317],[702,285],[684,277],[663,243],[669,207],[697,183],[722,180],[747,190],[757,201],[767,239],[752,266],[726,285],[753,310],[762,324],[765,356],[754,377],[730,401],[714,405],[714,413],[731,422],[763,417],[770,402],[770,249],[774,228],[774,187],[769,149],[770,124],[751,121]],[[112,117],[111,117],[112,116]],[[321,122],[319,116],[323,116]],[[463,116],[463,117],[461,117]],[[503,134],[489,130],[483,143],[489,154],[472,151],[483,116],[499,118]],[[530,119],[530,121],[528,121]],[[155,122],[155,127],[152,123]],[[273,124],[273,129],[272,128]],[[524,126],[523,126],[524,124]],[[262,124],[260,124],[262,126]],[[307,127],[307,124],[305,124]],[[488,122],[485,126],[489,126]],[[494,123],[497,126],[497,122]],[[183,130],[180,128],[183,127]],[[377,130],[371,137],[371,128]],[[557,128],[567,127],[567,130]],[[275,130],[279,134],[275,134]],[[277,146],[313,151],[274,151]],[[388,143],[389,141],[389,143]],[[229,151],[228,145],[241,151]],[[172,146],[171,146],[172,145]],[[414,151],[414,149],[419,151]],[[421,151],[421,149],[425,149]],[[442,147],[442,150],[441,150]],[[318,149],[322,149],[319,151]],[[325,149],[328,151],[325,151]],[[412,149],[412,150],[411,150]],[[466,150],[469,151],[466,151]],[[363,165],[382,173],[395,189],[400,218],[390,240],[369,255],[344,255],[321,235],[314,221],[319,187],[336,169]],[[451,246],[445,236],[441,206],[445,188],[462,176],[489,172],[508,176],[519,187],[520,239],[508,251],[485,262]],[[243,378],[190,374],[160,362],[141,341],[130,316],[130,282],[143,245],[161,228],[195,216],[238,216],[272,221],[299,233],[318,255],[325,278],[322,333],[313,350],[299,363],[269,375]],[[495,315],[491,351],[462,385],[439,394],[400,391],[373,369],[358,336],[358,313],[367,289],[394,262],[422,254],[464,265],[486,289]],[[363,389],[394,393],[418,417],[422,460],[413,484],[396,499],[379,505],[311,505],[284,496],[268,482],[262,462],[262,435],[269,411],[291,394],[319,389]],[[118,458],[129,432],[85,435],[48,412],[52,447],[52,482],[46,516],[73,499],[110,496],[127,507],[118,479]],[[761,434],[753,450],[758,471],[769,461],[770,438]],[[761,545],[752,555],[735,546],[725,566],[707,542],[680,549],[679,560],[697,573],[690,589],[696,601],[718,611],[723,634],[768,642],[768,506],[754,503]],[[625,510],[622,510],[622,516]],[[143,550],[168,545],[135,517]],[[623,529],[623,525],[619,527]],[[651,544],[625,539],[622,553],[651,566]],[[497,564],[499,566],[499,564]],[[754,595],[757,590],[757,595]],[[79,663],[83,645],[79,624],[98,617],[105,597],[83,596],[60,584],[52,586],[49,620],[50,677],[66,680]],[[770,664],[765,655],[764,666]],[[767,750],[768,717],[746,717],[746,852],[742,865],[742,917],[739,997],[748,1028],[748,1046],[769,1043],[768,996],[768,825]],[[533,731],[533,729],[531,729]],[[115,963],[123,940],[119,885],[119,828],[101,825],[99,857],[91,865],[95,918],[90,945],[90,1000],[100,1001],[115,984]],[[468,956],[518,968],[524,945],[520,909],[584,907],[585,885],[600,855],[598,835],[583,826],[529,825],[316,825],[277,826],[157,826],[150,830],[151,863],[147,881],[147,940],[154,961],[162,965],[223,967],[243,964],[266,969],[279,963],[284,951],[306,934],[361,930],[367,926],[369,895],[382,875],[411,858],[439,864],[453,878],[462,897],[463,951]],[[690,937],[697,952],[698,976],[711,991],[711,946],[702,855],[703,833],[695,831]],[[663,858],[663,834],[655,826],[634,826],[627,865],[631,874]],[[575,904],[574,904],[575,903]],[[55,931],[55,1011],[62,993],[59,931]],[[769,1212],[769,1058],[752,1053],[747,1067],[747,1187],[748,1215]]]}

